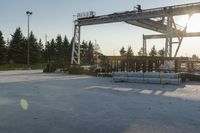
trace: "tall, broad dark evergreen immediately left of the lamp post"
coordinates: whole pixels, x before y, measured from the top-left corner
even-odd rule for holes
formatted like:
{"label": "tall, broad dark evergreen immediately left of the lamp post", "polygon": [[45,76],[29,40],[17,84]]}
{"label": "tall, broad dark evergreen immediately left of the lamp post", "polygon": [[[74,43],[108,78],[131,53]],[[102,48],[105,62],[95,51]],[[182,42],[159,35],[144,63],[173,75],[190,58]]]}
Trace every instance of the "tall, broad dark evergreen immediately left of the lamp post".
{"label": "tall, broad dark evergreen immediately left of the lamp post", "polygon": [[12,35],[8,58],[10,62],[27,63],[27,42],[25,41],[20,27],[18,27]]}

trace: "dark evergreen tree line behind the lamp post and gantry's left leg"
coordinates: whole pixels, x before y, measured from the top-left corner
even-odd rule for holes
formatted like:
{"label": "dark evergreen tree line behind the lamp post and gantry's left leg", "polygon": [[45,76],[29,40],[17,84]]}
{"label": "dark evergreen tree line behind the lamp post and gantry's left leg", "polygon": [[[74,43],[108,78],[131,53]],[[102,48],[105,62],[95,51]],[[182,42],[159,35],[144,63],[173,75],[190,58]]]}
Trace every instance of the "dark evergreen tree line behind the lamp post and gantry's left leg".
{"label": "dark evergreen tree line behind the lamp post and gantry's left leg", "polygon": [[[18,27],[11,35],[10,41],[5,41],[0,31],[0,64],[27,64],[28,39]],[[64,65],[71,63],[72,40],[67,36],[62,38],[57,35],[54,39],[43,45],[41,39],[37,39],[33,32],[29,36],[30,64],[51,63]],[[95,45],[91,41],[81,43],[81,64],[94,64]]]}

